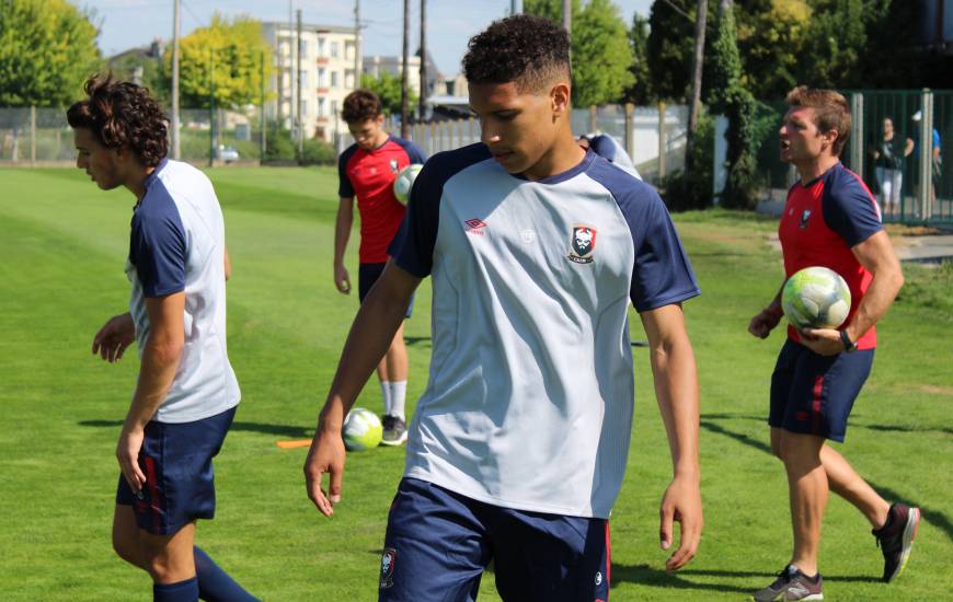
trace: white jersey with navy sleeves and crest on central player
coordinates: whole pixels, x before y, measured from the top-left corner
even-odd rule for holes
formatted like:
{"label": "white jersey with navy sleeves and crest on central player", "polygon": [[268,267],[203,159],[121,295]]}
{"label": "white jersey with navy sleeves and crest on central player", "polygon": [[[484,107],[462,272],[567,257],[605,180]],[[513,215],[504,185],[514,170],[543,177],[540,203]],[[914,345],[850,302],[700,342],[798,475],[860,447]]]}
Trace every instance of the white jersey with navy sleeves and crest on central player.
{"label": "white jersey with navy sleeves and crest on central player", "polygon": [[699,293],[655,190],[592,151],[530,182],[482,143],[430,159],[391,246],[433,276],[433,354],[405,476],[606,518],[629,452],[629,301]]}

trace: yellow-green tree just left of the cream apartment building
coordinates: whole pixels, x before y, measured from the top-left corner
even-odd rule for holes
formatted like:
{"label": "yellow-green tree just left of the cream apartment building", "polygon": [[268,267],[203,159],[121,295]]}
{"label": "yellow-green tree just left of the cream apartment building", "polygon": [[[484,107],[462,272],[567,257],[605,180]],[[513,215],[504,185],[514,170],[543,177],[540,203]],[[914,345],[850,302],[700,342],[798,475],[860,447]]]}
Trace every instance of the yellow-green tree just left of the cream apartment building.
{"label": "yellow-green tree just left of the cream apartment building", "polygon": [[[260,21],[244,15],[229,21],[216,13],[208,27],[195,30],[179,45],[183,105],[208,107],[213,90],[216,106],[234,108],[261,102],[262,60],[267,78],[272,72],[272,48],[262,35]],[[165,48],[163,65],[167,77],[171,77],[171,45]]]}

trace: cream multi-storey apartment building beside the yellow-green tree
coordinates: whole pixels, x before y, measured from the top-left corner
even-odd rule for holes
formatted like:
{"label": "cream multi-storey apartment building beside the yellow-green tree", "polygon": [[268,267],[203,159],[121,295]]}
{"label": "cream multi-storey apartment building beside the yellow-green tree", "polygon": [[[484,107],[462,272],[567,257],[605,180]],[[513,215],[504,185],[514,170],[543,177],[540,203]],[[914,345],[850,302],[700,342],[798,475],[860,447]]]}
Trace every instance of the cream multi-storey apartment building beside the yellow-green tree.
{"label": "cream multi-storey apartment building beside the yellow-green tree", "polygon": [[[290,23],[262,23],[265,40],[275,51],[275,72],[268,88],[274,96],[265,107],[268,119],[277,119],[283,127],[296,131],[298,114],[298,78],[295,40],[297,26]],[[335,132],[346,134],[347,125],[341,119],[341,105],[360,83],[354,30],[334,25],[301,25],[301,124],[306,138],[320,137],[328,142]]]}

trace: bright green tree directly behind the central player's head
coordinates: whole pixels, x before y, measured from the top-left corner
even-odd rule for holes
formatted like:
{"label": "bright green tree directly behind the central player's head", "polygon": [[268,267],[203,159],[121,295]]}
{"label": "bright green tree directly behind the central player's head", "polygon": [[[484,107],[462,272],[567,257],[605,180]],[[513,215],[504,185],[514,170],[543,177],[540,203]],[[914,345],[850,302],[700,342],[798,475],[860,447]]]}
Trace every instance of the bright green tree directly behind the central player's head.
{"label": "bright green tree directly behind the central player's head", "polygon": [[[573,104],[588,106],[618,101],[633,82],[632,49],[619,7],[611,0],[573,0]],[[562,23],[561,0],[527,0],[526,14]]]}

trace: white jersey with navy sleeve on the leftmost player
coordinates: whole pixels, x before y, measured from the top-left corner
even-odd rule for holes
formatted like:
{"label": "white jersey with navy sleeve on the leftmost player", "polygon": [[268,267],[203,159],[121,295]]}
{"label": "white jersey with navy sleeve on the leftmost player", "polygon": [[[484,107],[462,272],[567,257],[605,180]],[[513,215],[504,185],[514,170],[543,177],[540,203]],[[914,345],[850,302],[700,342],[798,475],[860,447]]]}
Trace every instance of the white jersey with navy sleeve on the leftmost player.
{"label": "white jersey with navy sleeve on the leftmost player", "polygon": [[225,336],[225,221],[211,182],[187,163],[163,160],[146,180],[129,236],[129,311],[141,356],[149,339],[146,299],[185,292],[185,346],[153,417],[191,422],[241,397]]}

